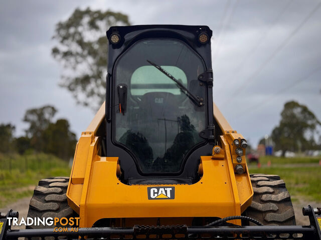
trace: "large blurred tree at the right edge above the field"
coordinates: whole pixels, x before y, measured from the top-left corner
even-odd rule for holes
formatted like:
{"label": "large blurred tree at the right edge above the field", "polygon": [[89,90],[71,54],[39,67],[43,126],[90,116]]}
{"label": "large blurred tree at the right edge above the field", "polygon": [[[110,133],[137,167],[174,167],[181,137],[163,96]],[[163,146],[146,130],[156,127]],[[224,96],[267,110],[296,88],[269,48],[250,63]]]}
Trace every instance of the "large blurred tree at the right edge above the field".
{"label": "large blurred tree at the right edge above the field", "polygon": [[281,120],[272,131],[275,150],[300,151],[313,149],[316,146],[314,136],[320,121],[305,105],[296,101],[284,104]]}

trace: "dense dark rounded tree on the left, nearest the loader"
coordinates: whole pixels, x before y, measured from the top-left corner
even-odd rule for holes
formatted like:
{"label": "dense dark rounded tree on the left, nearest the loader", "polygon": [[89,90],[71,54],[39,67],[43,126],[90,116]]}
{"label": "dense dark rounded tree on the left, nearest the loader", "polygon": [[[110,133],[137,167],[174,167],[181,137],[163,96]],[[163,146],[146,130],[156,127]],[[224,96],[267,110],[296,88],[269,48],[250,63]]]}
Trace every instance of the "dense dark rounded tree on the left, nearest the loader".
{"label": "dense dark rounded tree on the left, nearest the loader", "polygon": [[49,123],[42,132],[45,143],[44,152],[52,153],[62,159],[68,160],[74,155],[76,135],[69,130],[69,122],[66,119],[58,119],[56,123]]}

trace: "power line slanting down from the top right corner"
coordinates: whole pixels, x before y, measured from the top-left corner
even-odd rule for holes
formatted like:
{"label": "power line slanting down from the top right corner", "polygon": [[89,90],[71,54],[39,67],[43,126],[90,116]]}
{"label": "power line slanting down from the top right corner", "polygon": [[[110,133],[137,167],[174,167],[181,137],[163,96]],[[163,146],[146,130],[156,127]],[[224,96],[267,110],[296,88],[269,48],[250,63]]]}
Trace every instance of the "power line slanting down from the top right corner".
{"label": "power line slanting down from the top right corner", "polygon": [[285,40],[272,52],[272,54],[257,68],[257,70],[246,79],[246,86],[239,84],[239,87],[235,89],[235,91],[232,93],[232,95],[235,95],[239,92],[240,88],[242,88],[242,91],[246,89],[252,82],[255,77],[260,74],[260,72],[264,69],[264,67],[274,58],[274,56],[281,51],[286,44],[290,41],[290,39],[301,29],[301,27],[307,22],[307,20],[313,15],[313,13],[321,6],[321,2],[319,2],[312,11],[309,12],[309,14],[300,22],[300,24],[295,27],[295,29],[285,38]]}

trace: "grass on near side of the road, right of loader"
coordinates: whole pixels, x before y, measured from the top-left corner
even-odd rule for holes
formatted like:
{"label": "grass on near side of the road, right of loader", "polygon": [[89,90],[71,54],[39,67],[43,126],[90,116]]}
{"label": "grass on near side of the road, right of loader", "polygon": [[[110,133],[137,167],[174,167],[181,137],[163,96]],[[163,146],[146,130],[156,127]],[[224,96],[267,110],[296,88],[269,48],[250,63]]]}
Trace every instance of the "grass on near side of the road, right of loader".
{"label": "grass on near side of the road, right of loader", "polygon": [[[305,162],[305,161],[304,161]],[[301,163],[301,162],[297,162]],[[321,201],[321,166],[251,168],[250,173],[276,174],[286,183],[292,200],[304,196],[309,200]]]}

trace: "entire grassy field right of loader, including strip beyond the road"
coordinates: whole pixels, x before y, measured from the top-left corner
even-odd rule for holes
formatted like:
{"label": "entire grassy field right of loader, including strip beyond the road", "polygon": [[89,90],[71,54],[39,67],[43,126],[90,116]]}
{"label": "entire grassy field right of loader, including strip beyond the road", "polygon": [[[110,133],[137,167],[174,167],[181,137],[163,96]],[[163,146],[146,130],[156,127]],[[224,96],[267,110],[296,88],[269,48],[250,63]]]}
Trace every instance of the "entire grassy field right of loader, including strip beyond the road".
{"label": "entire grassy field right of loader, including strip beyond the road", "polygon": [[[317,163],[321,157],[260,157],[261,168],[255,163],[249,164],[250,173],[276,174],[286,183],[292,200],[305,197],[308,200],[321,201],[321,166]],[[270,167],[267,162],[271,161]]]}

